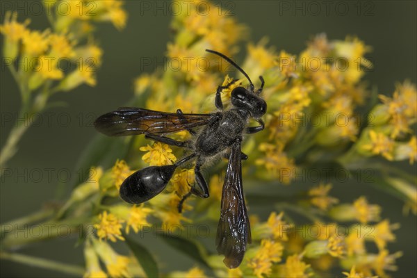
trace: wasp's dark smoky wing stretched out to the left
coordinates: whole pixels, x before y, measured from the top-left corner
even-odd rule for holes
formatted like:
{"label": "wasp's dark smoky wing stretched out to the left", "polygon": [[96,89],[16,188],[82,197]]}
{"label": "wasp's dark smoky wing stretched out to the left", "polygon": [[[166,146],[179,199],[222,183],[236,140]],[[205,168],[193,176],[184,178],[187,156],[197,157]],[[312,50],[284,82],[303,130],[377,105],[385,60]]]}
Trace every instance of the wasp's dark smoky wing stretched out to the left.
{"label": "wasp's dark smoky wing stretched out to the left", "polygon": [[178,114],[122,107],[95,120],[95,128],[107,136],[166,134],[204,126],[213,114]]}

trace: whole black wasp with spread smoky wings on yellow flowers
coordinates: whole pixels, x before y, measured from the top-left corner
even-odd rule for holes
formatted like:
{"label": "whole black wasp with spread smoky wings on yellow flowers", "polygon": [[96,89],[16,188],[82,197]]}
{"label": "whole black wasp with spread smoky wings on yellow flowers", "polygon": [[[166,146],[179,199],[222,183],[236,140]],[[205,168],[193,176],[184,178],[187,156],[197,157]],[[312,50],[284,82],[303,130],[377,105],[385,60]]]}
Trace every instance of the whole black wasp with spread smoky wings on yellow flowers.
{"label": "whole black wasp with spread smoky wings on yellow flowers", "polygon": [[[248,88],[236,87],[231,92],[231,108],[223,111],[221,92],[237,80],[218,86],[215,93],[215,106],[219,112],[210,114],[185,114],[151,111],[143,108],[119,108],[117,111],[101,115],[95,121],[95,128],[107,136],[131,136],[145,134],[149,138],[168,145],[183,147],[190,154],[174,165],[151,166],[131,174],[120,187],[120,197],[131,204],[140,204],[156,195],[167,186],[174,170],[196,159],[195,181],[190,193],[199,197],[208,197],[208,186],[200,167],[208,158],[225,156],[229,158],[222,191],[222,204],[218,224],[216,245],[219,254],[224,254],[224,264],[237,268],[245,255],[246,245],[251,242],[250,222],[247,217],[243,197],[241,160],[247,155],[240,152],[243,133],[256,133],[264,128],[261,117],[266,113],[266,102],[259,96],[261,87],[255,90],[249,76],[233,60],[217,51],[206,51],[218,55],[236,67],[249,81]],[[247,126],[249,119],[259,122],[259,126]],[[204,126],[202,129],[198,127]],[[165,137],[166,134],[187,130],[193,140],[177,141]],[[179,204],[181,210],[183,200]]]}

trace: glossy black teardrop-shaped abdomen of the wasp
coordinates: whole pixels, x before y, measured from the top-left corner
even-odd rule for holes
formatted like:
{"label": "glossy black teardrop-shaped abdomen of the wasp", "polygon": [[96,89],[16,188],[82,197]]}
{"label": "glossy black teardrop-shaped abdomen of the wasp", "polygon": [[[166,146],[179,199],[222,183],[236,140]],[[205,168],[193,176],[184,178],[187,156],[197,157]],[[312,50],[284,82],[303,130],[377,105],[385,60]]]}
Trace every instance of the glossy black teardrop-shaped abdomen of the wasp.
{"label": "glossy black teardrop-shaped abdomen of the wasp", "polygon": [[120,197],[131,204],[140,204],[152,199],[167,186],[176,167],[151,166],[134,172],[120,186]]}

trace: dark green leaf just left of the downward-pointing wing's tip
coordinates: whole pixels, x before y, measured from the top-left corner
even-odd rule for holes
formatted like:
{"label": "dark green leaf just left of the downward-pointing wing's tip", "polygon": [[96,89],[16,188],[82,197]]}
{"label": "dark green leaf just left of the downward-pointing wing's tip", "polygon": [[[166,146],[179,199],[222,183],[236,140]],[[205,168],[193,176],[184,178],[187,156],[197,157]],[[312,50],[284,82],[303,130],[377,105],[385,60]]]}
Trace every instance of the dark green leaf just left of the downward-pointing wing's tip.
{"label": "dark green leaf just left of the downward-pointing wing's tip", "polygon": [[174,249],[178,250],[179,252],[186,254],[191,259],[202,263],[202,265],[205,265],[206,267],[210,267],[208,263],[206,263],[206,250],[205,248],[194,240],[188,240],[186,238],[181,238],[179,236],[170,236],[167,234],[160,234],[165,240],[165,243],[170,245],[171,247],[174,247]]}

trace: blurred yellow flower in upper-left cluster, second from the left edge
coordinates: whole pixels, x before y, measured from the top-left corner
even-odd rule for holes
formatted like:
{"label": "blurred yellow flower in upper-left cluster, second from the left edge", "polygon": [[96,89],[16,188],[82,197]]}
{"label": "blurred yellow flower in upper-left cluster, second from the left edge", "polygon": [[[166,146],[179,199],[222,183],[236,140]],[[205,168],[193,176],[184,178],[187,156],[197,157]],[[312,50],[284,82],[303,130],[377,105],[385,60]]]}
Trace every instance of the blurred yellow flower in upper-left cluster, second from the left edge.
{"label": "blurred yellow flower in upper-left cluster, second from the left edge", "polygon": [[24,52],[29,56],[38,56],[44,54],[49,47],[49,30],[43,33],[39,31],[28,31],[23,33]]}

